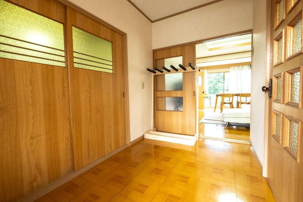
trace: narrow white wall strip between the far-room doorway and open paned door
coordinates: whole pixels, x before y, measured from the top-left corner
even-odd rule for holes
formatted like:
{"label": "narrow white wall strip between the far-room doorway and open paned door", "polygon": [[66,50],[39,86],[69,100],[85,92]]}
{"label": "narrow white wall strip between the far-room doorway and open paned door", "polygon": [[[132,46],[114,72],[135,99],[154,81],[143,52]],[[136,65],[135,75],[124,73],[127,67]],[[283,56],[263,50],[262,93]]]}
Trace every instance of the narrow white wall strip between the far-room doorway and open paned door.
{"label": "narrow white wall strip between the far-room doorway and open paned door", "polygon": [[264,158],[264,120],[265,94],[261,87],[268,82],[266,77],[266,1],[253,0],[253,47],[251,58],[251,126],[250,140],[257,156],[263,164]]}

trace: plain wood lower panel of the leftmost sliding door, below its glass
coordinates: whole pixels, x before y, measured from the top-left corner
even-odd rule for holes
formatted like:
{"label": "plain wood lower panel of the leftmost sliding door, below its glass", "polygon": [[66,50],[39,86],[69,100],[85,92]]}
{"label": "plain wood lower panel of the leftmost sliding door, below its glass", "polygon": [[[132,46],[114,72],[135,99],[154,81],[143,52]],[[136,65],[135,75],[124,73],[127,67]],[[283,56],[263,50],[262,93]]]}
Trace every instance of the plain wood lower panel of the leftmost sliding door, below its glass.
{"label": "plain wood lower panel of the leftmost sliding door, below its glass", "polygon": [[72,171],[67,68],[0,59],[0,195],[16,200]]}

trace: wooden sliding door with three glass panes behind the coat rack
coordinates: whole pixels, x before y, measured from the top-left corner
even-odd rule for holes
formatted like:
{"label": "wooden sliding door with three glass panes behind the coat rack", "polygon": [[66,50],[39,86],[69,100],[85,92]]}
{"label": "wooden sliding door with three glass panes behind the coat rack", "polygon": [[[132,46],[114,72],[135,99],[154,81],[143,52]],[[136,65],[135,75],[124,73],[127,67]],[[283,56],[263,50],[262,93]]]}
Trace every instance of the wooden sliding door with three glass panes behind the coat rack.
{"label": "wooden sliding door with three glass panes behind the coat rack", "polygon": [[[196,134],[196,101],[198,69],[192,71],[188,63],[196,64],[195,45],[185,45],[154,51],[154,65],[169,68],[170,73],[154,75],[154,123],[157,131],[177,134]],[[179,64],[188,67],[186,71]],[[179,68],[176,72],[170,68]]]}

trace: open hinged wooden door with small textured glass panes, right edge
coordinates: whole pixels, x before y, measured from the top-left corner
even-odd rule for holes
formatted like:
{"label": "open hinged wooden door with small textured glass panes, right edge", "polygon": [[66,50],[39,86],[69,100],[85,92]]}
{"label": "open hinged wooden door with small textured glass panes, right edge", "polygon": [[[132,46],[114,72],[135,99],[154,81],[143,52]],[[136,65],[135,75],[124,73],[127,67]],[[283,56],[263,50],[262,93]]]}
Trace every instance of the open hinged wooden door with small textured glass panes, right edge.
{"label": "open hinged wooden door with small textured glass panes, right edge", "polygon": [[279,201],[303,201],[302,0],[271,3],[268,179]]}

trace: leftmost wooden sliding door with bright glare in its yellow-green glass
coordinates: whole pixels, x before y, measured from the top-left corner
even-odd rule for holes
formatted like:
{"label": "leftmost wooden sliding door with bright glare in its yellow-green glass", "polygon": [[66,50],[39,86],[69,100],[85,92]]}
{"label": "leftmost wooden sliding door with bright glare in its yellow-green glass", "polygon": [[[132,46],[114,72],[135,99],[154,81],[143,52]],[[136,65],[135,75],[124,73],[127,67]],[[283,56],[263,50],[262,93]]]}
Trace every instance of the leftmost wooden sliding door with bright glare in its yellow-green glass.
{"label": "leftmost wooden sliding door with bright glare in its yellow-green glass", "polygon": [[1,201],[72,171],[65,6],[12,2],[24,8],[0,0]]}

